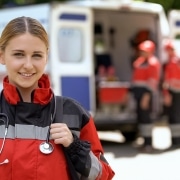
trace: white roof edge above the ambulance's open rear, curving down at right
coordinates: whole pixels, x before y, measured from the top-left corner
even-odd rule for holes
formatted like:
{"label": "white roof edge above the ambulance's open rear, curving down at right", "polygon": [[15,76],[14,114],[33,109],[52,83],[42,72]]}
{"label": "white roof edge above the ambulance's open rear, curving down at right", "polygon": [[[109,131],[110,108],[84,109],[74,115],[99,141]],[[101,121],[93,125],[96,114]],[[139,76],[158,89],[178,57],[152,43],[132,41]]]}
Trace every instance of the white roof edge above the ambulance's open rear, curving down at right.
{"label": "white roof edge above the ambulance's open rear, curving down at right", "polygon": [[130,12],[144,12],[159,16],[160,28],[163,36],[169,37],[170,28],[164,9],[160,4],[132,1],[132,0],[75,0],[67,1],[64,4],[87,7],[94,10],[121,10]]}

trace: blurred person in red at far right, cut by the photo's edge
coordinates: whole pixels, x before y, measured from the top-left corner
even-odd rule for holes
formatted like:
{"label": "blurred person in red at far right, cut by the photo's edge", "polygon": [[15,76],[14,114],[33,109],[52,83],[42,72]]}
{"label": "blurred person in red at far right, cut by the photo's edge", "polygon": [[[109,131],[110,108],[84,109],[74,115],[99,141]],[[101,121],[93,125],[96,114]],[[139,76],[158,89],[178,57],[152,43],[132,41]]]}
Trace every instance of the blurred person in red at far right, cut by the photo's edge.
{"label": "blurred person in red at far right, cut by the photo's edge", "polygon": [[168,61],[164,67],[163,102],[171,129],[172,147],[180,147],[180,58],[171,41],[165,45]]}

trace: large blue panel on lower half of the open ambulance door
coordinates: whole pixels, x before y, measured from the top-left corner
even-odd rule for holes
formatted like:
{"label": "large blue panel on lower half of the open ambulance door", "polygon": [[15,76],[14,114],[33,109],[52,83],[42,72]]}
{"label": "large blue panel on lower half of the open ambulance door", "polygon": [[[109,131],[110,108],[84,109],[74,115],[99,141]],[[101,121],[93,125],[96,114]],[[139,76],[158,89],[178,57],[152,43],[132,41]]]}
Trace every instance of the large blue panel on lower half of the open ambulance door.
{"label": "large blue panel on lower half of the open ambulance door", "polygon": [[62,95],[79,101],[83,107],[90,110],[89,77],[62,77]]}

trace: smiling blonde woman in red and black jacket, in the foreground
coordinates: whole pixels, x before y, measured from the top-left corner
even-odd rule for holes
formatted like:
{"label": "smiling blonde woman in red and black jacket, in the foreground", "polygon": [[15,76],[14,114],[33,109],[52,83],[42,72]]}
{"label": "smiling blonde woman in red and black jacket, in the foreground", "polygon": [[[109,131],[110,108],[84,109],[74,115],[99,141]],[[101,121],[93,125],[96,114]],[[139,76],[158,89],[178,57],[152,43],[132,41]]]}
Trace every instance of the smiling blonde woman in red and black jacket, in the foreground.
{"label": "smiling blonde woman in red and black jacket, in the foreground", "polygon": [[1,34],[0,179],[111,180],[91,115],[53,93],[48,52],[45,29],[30,17],[11,20]]}

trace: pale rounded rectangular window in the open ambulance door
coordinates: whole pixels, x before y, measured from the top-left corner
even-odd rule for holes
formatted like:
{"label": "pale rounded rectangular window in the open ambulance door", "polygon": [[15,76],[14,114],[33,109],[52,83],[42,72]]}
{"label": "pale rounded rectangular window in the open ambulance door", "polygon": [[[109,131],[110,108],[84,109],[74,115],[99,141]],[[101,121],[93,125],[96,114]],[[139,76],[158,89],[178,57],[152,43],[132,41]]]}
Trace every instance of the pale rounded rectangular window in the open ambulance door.
{"label": "pale rounded rectangular window in the open ambulance door", "polygon": [[58,35],[59,57],[62,62],[82,60],[82,31],[75,28],[61,28]]}

